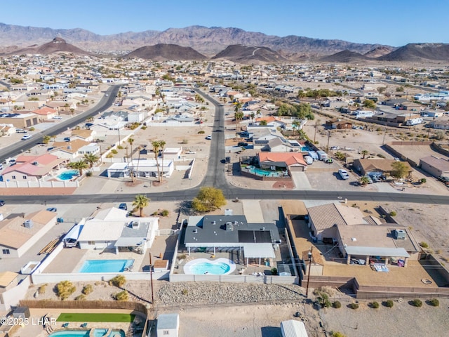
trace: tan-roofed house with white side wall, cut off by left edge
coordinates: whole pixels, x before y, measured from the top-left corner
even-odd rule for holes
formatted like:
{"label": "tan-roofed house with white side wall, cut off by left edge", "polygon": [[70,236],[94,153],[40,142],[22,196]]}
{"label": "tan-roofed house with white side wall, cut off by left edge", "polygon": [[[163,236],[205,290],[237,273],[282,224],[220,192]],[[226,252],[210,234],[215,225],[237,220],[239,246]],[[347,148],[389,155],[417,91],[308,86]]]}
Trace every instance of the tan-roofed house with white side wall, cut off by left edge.
{"label": "tan-roofed house with white side wall, cut off by left edge", "polygon": [[20,258],[56,223],[57,214],[36,211],[0,221],[0,258]]}

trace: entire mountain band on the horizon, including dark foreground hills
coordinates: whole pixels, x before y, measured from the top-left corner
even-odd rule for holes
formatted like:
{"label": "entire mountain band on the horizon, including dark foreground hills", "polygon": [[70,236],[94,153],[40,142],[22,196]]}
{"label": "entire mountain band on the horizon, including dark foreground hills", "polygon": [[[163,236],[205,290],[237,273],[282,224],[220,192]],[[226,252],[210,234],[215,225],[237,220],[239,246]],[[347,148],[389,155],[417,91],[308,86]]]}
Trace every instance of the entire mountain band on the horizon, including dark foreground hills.
{"label": "entire mountain band on the horizon, including dark foreground hills", "polygon": [[[51,42],[48,42],[51,40]],[[67,41],[66,41],[67,40]],[[0,23],[0,55],[4,53],[128,51],[126,58],[149,60],[227,59],[241,63],[422,62],[448,61],[449,44],[408,44],[399,48],[354,44],[342,40],[276,37],[238,28],[170,28],[163,32],[98,35],[84,29],[22,27]],[[31,44],[31,46],[30,46]],[[40,44],[40,45],[39,45]],[[76,45],[76,46],[75,46]],[[83,50],[84,49],[84,50]],[[91,52],[85,51],[89,50]]]}

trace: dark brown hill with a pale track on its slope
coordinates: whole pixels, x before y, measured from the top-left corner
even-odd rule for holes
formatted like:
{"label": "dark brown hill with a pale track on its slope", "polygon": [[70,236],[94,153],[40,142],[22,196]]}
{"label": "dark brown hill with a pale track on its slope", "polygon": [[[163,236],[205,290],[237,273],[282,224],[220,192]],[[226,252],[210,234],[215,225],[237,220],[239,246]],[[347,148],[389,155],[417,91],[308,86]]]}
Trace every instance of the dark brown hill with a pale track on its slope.
{"label": "dark brown hill with a pale track on its slope", "polygon": [[272,51],[267,47],[248,47],[241,44],[227,46],[225,50],[220,51],[213,59],[224,58],[239,63],[276,63],[286,62],[287,59],[281,54]]}

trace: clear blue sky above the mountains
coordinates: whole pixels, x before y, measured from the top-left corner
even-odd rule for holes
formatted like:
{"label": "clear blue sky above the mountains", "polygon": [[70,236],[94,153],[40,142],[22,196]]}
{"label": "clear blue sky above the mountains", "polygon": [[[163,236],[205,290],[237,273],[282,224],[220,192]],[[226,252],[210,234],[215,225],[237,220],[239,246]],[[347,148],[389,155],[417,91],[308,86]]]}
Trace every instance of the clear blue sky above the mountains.
{"label": "clear blue sky above the mountains", "polygon": [[[201,25],[403,46],[449,43],[448,0],[1,0],[0,22],[96,34]],[[1,44],[1,41],[0,41]]]}

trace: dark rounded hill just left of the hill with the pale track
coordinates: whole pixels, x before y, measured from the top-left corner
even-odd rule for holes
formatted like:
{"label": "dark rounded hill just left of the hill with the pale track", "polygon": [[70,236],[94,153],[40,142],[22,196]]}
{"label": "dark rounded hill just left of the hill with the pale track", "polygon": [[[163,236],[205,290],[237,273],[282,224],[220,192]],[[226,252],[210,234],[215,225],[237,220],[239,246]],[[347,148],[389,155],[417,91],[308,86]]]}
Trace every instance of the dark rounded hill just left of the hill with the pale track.
{"label": "dark rounded hill just left of the hill with the pale track", "polygon": [[156,44],[145,46],[132,51],[125,58],[143,58],[145,60],[206,60],[206,56],[190,47],[177,46],[176,44]]}

